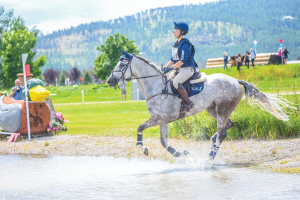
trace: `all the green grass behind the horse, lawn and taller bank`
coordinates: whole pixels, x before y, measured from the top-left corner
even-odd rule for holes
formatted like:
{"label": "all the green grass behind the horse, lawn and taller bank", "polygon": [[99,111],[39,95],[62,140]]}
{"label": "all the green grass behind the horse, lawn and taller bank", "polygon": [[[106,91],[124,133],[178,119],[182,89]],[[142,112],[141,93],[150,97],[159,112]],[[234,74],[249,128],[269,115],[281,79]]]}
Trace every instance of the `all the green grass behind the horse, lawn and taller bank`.
{"label": "all the green grass behind the horse, lawn and taller bank", "polygon": [[[300,91],[300,65],[268,65],[257,66],[238,72],[236,68],[201,70],[207,75],[224,73],[237,79],[254,83],[267,93]],[[47,87],[52,93],[54,107],[62,112],[70,121],[67,124],[68,134],[93,136],[133,136],[140,124],[150,118],[145,102],[131,101],[131,84],[127,85],[127,100],[131,102],[118,102],[120,89],[114,90],[103,85],[83,85],[78,87]],[[1,90],[1,89],[0,89]],[[81,103],[84,90],[85,103]],[[231,119],[235,126],[228,131],[227,139],[238,138],[281,138],[298,137],[300,133],[300,107],[299,95],[287,97],[295,103],[297,111],[289,110],[291,120],[282,122],[271,114],[257,107],[251,107],[246,101],[240,102]],[[115,101],[115,102],[114,102]],[[171,137],[186,137],[193,139],[206,139],[216,132],[216,121],[206,111],[190,118],[170,123]],[[158,127],[145,130],[145,137],[159,138]]]}

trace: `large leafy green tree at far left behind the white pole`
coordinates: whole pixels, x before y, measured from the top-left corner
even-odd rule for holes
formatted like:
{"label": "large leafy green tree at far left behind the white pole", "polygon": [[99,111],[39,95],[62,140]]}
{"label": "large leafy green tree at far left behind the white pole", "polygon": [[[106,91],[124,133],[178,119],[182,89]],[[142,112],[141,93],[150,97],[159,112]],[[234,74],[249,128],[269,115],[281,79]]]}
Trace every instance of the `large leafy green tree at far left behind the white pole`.
{"label": "large leafy green tree at far left behind the white pole", "polygon": [[29,30],[19,16],[12,20],[9,30],[3,34],[0,51],[3,72],[9,84],[13,84],[17,74],[23,72],[22,54],[28,54],[26,64],[30,65],[30,73],[35,77],[41,75],[40,68],[46,63],[46,56],[41,55],[34,60],[35,52],[32,50],[37,42],[38,33],[38,30]]}

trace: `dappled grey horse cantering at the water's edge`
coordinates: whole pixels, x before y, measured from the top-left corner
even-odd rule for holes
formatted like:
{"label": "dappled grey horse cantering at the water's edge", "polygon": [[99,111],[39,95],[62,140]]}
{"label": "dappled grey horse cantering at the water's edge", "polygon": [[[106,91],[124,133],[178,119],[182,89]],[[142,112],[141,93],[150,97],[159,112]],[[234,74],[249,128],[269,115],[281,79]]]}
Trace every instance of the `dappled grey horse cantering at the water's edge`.
{"label": "dappled grey horse cantering at the water's edge", "polygon": [[[120,59],[106,82],[110,87],[116,87],[119,80],[128,80],[131,79],[130,77],[134,77],[133,79],[137,80],[140,90],[147,99],[146,105],[151,118],[142,123],[137,129],[137,147],[145,155],[149,154],[148,148],[143,145],[143,131],[158,125],[162,146],[174,157],[188,156],[189,153],[187,151],[176,151],[176,149],[168,145],[168,124],[178,120],[181,105],[181,99],[178,96],[168,95],[167,98],[162,98],[163,96],[161,96],[166,94],[166,92],[162,92],[163,87],[167,91],[171,91],[170,84],[166,84],[166,80],[172,78],[171,73],[165,75],[162,69],[139,55],[128,54],[124,51],[122,53],[128,59],[125,61]],[[185,117],[190,117],[206,110],[210,116],[217,120],[217,132],[210,139],[211,151],[208,155],[209,160],[215,158],[221,143],[226,137],[226,132],[234,126],[234,122],[229,117],[238,106],[242,97],[260,104],[261,108],[264,108],[279,120],[289,120],[289,116],[282,109],[282,107],[290,107],[287,100],[284,101],[264,94],[253,84],[237,80],[225,74],[208,75],[204,81],[202,92],[190,97],[194,107],[185,113]]]}

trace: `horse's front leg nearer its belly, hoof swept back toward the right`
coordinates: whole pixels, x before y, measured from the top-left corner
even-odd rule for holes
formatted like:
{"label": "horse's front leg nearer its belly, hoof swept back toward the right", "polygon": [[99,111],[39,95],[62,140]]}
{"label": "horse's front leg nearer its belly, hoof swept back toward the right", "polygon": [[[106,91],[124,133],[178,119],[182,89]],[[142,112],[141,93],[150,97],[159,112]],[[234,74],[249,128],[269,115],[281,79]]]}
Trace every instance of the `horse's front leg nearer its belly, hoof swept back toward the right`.
{"label": "horse's front leg nearer its belly, hoof swept back toward the right", "polygon": [[[176,151],[168,144],[169,124],[161,124],[159,125],[159,128],[161,145],[166,148],[174,157],[181,156],[182,154],[179,151]],[[183,154],[187,156],[189,153],[187,151],[183,151]]]}

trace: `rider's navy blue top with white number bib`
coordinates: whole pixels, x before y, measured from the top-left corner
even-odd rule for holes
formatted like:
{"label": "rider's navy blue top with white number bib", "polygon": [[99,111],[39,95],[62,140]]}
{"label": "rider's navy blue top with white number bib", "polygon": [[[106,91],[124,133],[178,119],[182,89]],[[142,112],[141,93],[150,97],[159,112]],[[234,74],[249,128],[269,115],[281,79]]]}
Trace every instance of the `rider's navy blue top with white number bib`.
{"label": "rider's navy blue top with white number bib", "polygon": [[[192,55],[193,54],[192,45],[190,45],[189,42],[185,42],[185,41],[188,41],[188,39],[184,38],[180,40],[179,44],[178,41],[174,44],[174,46],[172,47],[171,61],[174,64],[176,64],[178,61],[182,61],[183,65],[181,67],[195,67],[194,58]],[[184,44],[182,45],[182,43]],[[191,57],[192,59],[188,59]]]}

